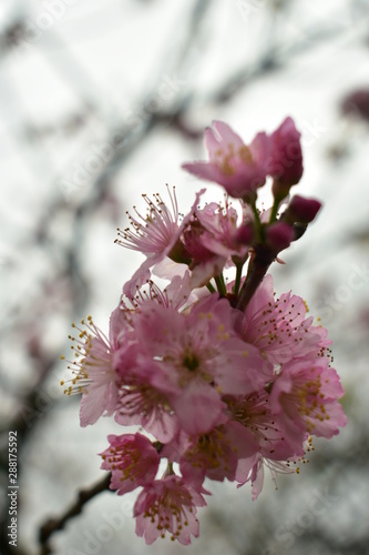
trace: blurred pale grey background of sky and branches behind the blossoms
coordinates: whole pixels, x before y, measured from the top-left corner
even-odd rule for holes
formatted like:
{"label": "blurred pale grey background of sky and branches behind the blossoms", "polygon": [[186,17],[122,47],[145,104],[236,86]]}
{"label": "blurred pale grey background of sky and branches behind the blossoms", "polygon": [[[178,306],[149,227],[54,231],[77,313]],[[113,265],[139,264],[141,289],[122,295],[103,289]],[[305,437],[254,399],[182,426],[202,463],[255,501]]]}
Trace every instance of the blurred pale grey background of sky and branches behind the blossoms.
{"label": "blurred pale grey background of sky and branches behind the blossoms", "polygon": [[[0,416],[2,554],[337,555],[369,553],[369,1],[1,0]],[[212,483],[188,547],[146,546],[135,494],[105,492],[48,545],[41,525],[102,477],[111,418],[80,428],[59,381],[70,324],[104,331],[142,260],[114,245],[141,194],[199,183],[204,127],[249,142],[291,115],[303,133],[294,192],[325,206],[271,273],[301,295],[334,342],[348,426],[315,442],[300,475]],[[221,188],[207,185],[216,199]],[[266,195],[265,205],[268,206]],[[18,433],[18,547],[7,537],[8,432]]]}

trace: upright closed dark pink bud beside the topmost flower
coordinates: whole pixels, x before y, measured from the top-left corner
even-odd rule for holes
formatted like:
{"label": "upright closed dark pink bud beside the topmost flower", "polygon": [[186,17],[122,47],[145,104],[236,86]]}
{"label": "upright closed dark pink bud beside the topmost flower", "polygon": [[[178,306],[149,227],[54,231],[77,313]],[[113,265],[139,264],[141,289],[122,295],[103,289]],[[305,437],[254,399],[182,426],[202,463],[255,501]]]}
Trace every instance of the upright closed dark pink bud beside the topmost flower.
{"label": "upright closed dark pink bud beside the topmost flower", "polygon": [[273,193],[276,198],[285,198],[289,189],[301,179],[304,169],[300,137],[291,118],[286,118],[270,135],[268,174],[274,178]]}

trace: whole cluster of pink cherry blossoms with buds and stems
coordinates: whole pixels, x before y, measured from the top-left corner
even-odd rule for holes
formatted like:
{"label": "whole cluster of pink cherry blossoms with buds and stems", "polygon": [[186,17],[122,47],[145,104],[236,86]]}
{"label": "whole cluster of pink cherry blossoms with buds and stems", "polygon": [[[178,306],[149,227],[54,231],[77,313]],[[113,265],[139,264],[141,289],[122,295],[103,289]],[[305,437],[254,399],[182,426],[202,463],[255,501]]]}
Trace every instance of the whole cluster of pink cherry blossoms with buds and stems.
{"label": "whole cluster of pink cherry blossoms with buds and stems", "polygon": [[[276,297],[267,274],[320,209],[290,198],[303,175],[294,121],[249,145],[216,121],[205,144],[208,161],[184,168],[222,185],[225,202],[202,203],[201,190],[181,215],[174,189],[168,202],[144,195],[146,214],[135,210],[116,242],[145,260],[123,286],[107,336],[91,316],[73,324],[73,375],[62,382],[82,394],[82,426],[102,415],[137,426],[109,435],[100,455],[111,490],[141,488],[134,517],[147,544],[198,536],[205,478],[249,483],[256,500],[265,467],[274,478],[299,473],[312,436],[330,438],[347,422],[327,331],[301,297]],[[273,205],[260,211],[268,183]]]}

